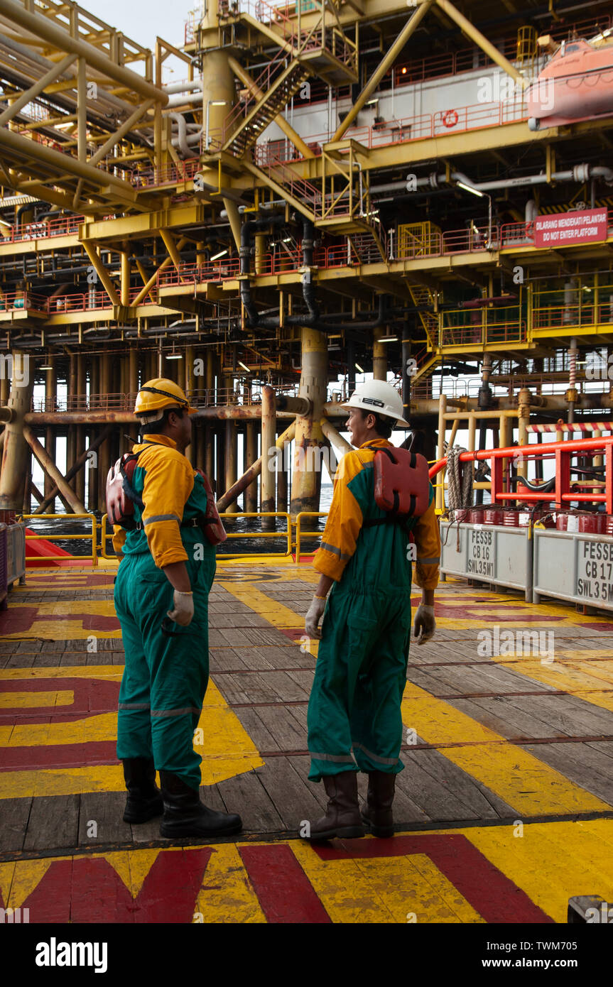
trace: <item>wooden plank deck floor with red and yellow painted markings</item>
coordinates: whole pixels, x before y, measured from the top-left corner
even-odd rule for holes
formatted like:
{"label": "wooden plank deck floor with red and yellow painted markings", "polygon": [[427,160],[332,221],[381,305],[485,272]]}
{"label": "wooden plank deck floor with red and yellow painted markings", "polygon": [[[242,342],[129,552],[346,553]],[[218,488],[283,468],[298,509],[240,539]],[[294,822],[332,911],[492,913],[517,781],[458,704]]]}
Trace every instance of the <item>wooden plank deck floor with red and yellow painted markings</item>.
{"label": "wooden plank deck floor with red and yellow painted markings", "polygon": [[[175,846],[158,820],[121,820],[114,576],[33,570],[0,614],[0,906],[31,922],[547,923],[573,895],[613,901],[613,619],[441,583],[436,637],[409,657],[397,833],[315,848],[298,831],[325,804],[307,781],[317,573],[218,566],[195,744],[203,797],[244,831]],[[537,632],[540,653],[508,631]]]}

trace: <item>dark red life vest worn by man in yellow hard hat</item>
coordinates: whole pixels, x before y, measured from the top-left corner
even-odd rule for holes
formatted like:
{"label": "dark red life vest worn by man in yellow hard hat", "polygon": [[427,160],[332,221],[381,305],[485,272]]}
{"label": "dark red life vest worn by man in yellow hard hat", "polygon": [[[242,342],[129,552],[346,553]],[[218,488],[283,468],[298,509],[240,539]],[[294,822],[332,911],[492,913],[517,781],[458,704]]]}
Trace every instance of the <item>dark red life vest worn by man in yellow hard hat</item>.
{"label": "dark red life vest worn by man in yellow hard hat", "polygon": [[[141,511],[144,509],[142,499],[132,486],[134,468],[142,451],[140,449],[138,452],[123,453],[120,459],[117,459],[115,466],[111,467],[107,476],[106,499],[109,522],[120,524],[126,531],[134,531],[140,527],[134,518],[134,504],[137,503]],[[198,514],[191,521],[186,521],[185,526],[193,527],[193,521],[196,520],[197,526],[204,532],[206,540],[211,545],[221,545],[228,536],[217,511],[214,494],[205,474],[198,469],[195,472],[199,473],[204,484],[206,512]]]}

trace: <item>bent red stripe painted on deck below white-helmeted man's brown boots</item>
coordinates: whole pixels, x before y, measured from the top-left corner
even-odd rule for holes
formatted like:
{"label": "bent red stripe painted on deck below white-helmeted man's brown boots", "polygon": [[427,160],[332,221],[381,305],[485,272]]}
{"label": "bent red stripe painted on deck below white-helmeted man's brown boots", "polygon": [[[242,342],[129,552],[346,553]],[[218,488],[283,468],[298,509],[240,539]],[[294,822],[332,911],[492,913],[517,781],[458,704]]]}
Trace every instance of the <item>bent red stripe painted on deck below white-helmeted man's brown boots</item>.
{"label": "bent red stripe painted on deck below white-helmeted man's brown boots", "polygon": [[344,840],[343,849],[313,845],[324,861],[426,854],[461,895],[490,924],[553,922],[462,833],[396,836],[389,840]]}

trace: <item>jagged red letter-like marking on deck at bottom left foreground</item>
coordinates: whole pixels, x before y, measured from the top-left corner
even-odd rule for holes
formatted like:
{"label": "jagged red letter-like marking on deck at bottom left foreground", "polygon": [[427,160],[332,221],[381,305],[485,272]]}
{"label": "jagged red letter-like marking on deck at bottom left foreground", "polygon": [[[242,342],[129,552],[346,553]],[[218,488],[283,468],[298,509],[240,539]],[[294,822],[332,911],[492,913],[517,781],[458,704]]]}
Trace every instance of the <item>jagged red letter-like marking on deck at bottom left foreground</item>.
{"label": "jagged red letter-like marking on deck at bottom left foreground", "polygon": [[54,861],[23,904],[31,923],[192,923],[212,847],[161,850],[136,898],[104,858]]}

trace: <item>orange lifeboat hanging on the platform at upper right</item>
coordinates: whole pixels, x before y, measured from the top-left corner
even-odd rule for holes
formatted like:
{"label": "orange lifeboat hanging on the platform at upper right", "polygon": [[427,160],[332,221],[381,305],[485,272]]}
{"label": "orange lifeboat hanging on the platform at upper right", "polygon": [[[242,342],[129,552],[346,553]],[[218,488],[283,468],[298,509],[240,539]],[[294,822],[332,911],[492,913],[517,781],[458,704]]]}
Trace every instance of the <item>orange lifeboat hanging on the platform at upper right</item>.
{"label": "orange lifeboat hanging on the platform at upper right", "polygon": [[574,123],[613,114],[613,37],[563,41],[526,91],[528,126]]}

